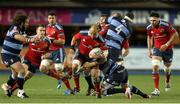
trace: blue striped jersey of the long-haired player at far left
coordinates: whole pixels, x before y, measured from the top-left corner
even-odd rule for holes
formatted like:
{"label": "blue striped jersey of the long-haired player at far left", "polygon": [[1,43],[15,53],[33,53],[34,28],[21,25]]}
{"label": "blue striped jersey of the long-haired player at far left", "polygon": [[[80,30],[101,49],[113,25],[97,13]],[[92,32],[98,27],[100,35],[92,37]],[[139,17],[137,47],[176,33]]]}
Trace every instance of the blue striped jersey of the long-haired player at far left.
{"label": "blue striped jersey of the long-haired player at far left", "polygon": [[23,48],[23,43],[19,40],[16,40],[14,36],[16,34],[22,34],[26,36],[24,31],[21,31],[17,26],[11,26],[6,34],[6,38],[3,42],[1,53],[19,55],[21,49]]}

